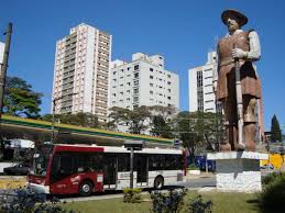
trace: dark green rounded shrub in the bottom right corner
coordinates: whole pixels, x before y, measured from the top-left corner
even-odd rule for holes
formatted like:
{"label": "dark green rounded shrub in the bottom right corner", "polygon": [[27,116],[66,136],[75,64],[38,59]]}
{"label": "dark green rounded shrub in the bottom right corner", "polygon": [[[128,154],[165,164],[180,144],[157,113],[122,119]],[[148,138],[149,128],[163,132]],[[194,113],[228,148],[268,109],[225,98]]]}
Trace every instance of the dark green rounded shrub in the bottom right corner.
{"label": "dark green rounded shrub in the bottom right corner", "polygon": [[262,210],[281,210],[285,201],[285,175],[271,175],[264,180],[264,189],[260,194],[260,204]]}

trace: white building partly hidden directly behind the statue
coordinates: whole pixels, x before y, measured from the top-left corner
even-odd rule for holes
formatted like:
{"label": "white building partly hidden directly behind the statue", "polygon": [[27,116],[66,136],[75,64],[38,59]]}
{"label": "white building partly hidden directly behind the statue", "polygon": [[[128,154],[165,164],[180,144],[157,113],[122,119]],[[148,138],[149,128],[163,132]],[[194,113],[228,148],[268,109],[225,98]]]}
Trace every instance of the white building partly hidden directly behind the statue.
{"label": "white building partly hidden directly behind the statue", "polygon": [[217,54],[211,52],[208,53],[206,65],[188,70],[190,112],[216,112],[216,97],[212,89],[212,75],[216,68]]}

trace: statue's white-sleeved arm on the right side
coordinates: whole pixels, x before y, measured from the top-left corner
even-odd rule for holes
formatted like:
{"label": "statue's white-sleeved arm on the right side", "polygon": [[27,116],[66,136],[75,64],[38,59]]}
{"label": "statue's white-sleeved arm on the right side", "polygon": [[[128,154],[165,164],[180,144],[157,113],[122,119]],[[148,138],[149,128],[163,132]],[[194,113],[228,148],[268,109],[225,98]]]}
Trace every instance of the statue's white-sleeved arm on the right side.
{"label": "statue's white-sleeved arm on the right side", "polygon": [[248,60],[259,60],[261,58],[261,45],[259,34],[255,31],[249,33],[250,51],[246,53]]}

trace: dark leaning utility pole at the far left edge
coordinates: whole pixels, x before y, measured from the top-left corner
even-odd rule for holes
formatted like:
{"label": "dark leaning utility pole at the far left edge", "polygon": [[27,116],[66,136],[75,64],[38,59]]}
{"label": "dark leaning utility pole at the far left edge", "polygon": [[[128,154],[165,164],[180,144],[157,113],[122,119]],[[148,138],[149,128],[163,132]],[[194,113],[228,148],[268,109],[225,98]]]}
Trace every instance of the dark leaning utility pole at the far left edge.
{"label": "dark leaning utility pole at the far left edge", "polygon": [[3,110],[3,99],[4,99],[4,86],[6,86],[6,72],[8,67],[8,59],[9,59],[9,52],[10,52],[10,43],[11,43],[11,35],[12,35],[12,23],[8,24],[6,35],[6,45],[4,45],[4,53],[3,53],[3,64],[1,66],[0,72],[0,144],[1,144],[1,152],[4,150],[4,143],[2,139],[2,110]]}

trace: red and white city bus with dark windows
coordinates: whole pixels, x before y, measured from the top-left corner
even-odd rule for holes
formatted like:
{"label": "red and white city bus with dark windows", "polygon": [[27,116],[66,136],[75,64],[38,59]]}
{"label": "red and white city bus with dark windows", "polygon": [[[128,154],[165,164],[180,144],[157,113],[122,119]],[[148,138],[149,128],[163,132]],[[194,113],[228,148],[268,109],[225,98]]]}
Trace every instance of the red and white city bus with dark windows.
{"label": "red and white city bus with dark windows", "polygon": [[[183,150],[144,148],[134,152],[134,188],[161,189],[184,181]],[[124,147],[39,145],[28,176],[29,188],[50,194],[90,195],[130,187],[130,150]]]}

